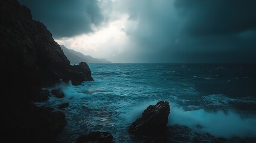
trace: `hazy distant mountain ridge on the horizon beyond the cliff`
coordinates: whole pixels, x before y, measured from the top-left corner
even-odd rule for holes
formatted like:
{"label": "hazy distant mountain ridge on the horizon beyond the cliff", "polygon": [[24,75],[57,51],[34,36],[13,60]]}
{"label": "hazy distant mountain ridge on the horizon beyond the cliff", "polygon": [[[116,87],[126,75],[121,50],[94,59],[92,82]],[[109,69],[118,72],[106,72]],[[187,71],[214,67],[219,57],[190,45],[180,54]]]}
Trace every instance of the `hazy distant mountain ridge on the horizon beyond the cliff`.
{"label": "hazy distant mountain ridge on the horizon beyond the cliff", "polygon": [[82,61],[89,63],[89,64],[97,64],[97,63],[104,63],[110,64],[111,61],[105,59],[98,59],[91,57],[90,55],[84,55],[81,52],[75,51],[73,49],[69,49],[64,45],[60,45],[61,49],[63,50],[64,54],[66,55],[67,59],[69,59],[70,63],[80,63]]}

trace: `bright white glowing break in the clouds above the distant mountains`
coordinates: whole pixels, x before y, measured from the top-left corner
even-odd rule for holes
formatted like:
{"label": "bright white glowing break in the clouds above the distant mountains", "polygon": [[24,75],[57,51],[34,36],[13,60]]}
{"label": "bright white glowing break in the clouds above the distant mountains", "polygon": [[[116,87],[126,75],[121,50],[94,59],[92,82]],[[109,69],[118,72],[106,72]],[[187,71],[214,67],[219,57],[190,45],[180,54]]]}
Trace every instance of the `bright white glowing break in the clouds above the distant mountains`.
{"label": "bright white glowing break in the clouds above the distant mountains", "polygon": [[125,44],[128,42],[128,36],[124,31],[127,23],[128,15],[123,14],[119,19],[110,21],[107,26],[96,29],[94,33],[55,39],[55,41],[84,55],[109,59],[124,52]]}

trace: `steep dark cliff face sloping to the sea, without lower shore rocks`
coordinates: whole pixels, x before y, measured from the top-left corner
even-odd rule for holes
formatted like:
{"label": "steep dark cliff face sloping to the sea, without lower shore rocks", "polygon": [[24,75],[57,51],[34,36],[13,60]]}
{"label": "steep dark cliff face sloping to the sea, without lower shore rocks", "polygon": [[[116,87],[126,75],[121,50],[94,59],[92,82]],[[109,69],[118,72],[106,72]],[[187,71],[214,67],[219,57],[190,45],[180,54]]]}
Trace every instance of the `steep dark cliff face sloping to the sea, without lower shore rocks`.
{"label": "steep dark cliff face sloping to the sea, without lower shore rocks", "polygon": [[[44,24],[32,20],[30,10],[16,0],[0,2],[1,69],[4,82],[24,89],[51,85],[62,79],[79,84],[93,80],[87,64],[70,66]],[[20,87],[22,86],[22,87]]]}

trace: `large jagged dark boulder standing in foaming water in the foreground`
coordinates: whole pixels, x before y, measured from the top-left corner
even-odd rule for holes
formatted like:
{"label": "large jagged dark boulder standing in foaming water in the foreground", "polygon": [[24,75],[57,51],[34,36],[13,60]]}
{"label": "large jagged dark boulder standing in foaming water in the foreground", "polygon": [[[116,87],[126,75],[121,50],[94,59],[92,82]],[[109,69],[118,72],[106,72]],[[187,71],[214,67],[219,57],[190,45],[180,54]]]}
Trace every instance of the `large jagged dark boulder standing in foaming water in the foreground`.
{"label": "large jagged dark boulder standing in foaming water in the foreground", "polygon": [[134,135],[158,136],[166,131],[170,113],[169,102],[159,101],[156,105],[149,105],[142,117],[129,126],[129,133]]}

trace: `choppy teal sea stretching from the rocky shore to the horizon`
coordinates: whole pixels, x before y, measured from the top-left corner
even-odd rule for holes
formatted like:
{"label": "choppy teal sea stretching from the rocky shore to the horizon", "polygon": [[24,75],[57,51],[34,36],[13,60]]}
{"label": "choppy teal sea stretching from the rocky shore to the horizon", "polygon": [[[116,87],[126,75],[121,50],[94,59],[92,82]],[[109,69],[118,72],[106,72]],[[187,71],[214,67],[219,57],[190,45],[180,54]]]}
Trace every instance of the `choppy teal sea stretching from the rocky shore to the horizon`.
{"label": "choppy teal sea stretching from the rocky shore to the horizon", "polygon": [[[92,131],[110,132],[115,142],[141,142],[128,126],[144,109],[168,101],[166,142],[256,142],[255,64],[89,64],[93,82],[59,83],[66,97],[37,103],[64,108],[61,142]],[[233,139],[233,140],[232,140]]]}

